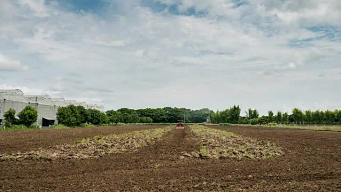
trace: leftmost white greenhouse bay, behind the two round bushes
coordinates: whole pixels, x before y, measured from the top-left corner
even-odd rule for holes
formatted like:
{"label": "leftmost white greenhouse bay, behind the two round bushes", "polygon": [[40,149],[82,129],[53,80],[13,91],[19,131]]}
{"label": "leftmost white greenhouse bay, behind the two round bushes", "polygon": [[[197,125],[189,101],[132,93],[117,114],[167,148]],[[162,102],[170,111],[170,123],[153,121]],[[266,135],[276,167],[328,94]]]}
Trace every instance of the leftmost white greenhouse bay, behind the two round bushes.
{"label": "leftmost white greenhouse bay, behind the two round bushes", "polygon": [[8,109],[14,109],[17,115],[27,105],[28,101],[21,90],[0,90],[0,125],[2,124],[3,114]]}

